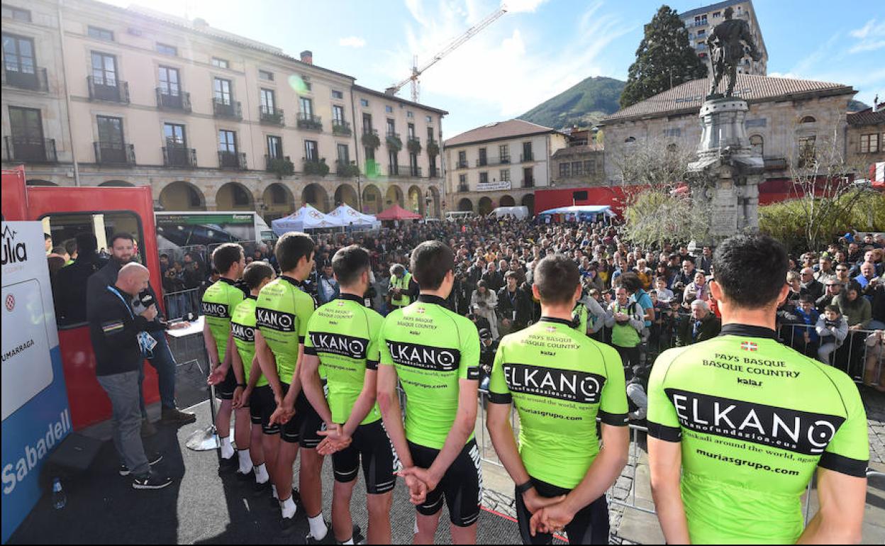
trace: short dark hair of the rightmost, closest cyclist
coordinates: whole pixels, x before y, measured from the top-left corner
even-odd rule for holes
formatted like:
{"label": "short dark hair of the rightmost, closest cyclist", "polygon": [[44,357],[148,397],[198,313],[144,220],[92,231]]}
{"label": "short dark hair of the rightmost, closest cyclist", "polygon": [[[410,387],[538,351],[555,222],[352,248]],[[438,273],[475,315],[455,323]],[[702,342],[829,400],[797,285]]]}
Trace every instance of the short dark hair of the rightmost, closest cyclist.
{"label": "short dark hair of the rightmost, closest cyclist", "polygon": [[768,235],[735,235],[713,255],[713,280],[737,307],[778,304],[789,267],[787,250]]}

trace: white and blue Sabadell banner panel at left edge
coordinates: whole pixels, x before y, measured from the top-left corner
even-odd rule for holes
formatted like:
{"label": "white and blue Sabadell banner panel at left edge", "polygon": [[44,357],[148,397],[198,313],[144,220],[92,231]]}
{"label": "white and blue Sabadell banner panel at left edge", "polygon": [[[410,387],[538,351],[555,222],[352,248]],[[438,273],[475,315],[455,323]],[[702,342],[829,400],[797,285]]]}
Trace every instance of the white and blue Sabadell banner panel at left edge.
{"label": "white and blue Sabadell banner panel at left edge", "polygon": [[41,222],[3,222],[3,542],[42,496],[50,452],[71,432]]}

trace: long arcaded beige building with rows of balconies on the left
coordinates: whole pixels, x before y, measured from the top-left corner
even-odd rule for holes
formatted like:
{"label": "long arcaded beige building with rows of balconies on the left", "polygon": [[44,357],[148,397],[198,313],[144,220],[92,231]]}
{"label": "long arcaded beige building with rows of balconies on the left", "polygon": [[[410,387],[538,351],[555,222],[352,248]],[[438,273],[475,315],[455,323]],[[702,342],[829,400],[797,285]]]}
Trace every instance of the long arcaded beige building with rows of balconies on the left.
{"label": "long arcaded beige building with rows of balconies on the left", "polygon": [[305,203],[442,213],[447,112],[311,51],[94,0],[4,2],[3,39],[3,164],[31,184],[150,186],[158,210],[266,219]]}

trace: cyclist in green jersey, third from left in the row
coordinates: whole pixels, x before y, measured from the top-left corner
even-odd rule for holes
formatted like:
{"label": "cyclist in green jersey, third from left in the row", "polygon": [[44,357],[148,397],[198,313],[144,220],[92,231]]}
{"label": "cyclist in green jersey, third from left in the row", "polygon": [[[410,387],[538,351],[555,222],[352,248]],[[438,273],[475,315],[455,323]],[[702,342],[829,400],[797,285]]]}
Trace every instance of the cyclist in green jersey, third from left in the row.
{"label": "cyclist in green jersey, third from left in the row", "polygon": [[[276,463],[271,474],[280,501],[282,530],[289,533],[295,525],[292,465],[300,447],[298,483],[311,526],[308,538],[321,541],[327,534],[320,478],[323,458],[316,450],[322,440],[318,434],[322,419],[304,396],[298,377],[307,322],[314,309],[313,298],[303,288],[313,269],[313,248],[311,236],[304,233],[289,232],[277,241],[275,253],[282,273],[258,294],[255,351],[270,387],[259,395],[259,404],[266,413],[262,424],[266,422],[270,427],[266,432],[274,436],[271,450],[276,452]],[[273,425],[279,428],[273,429]],[[282,442],[275,438],[276,434]]]}

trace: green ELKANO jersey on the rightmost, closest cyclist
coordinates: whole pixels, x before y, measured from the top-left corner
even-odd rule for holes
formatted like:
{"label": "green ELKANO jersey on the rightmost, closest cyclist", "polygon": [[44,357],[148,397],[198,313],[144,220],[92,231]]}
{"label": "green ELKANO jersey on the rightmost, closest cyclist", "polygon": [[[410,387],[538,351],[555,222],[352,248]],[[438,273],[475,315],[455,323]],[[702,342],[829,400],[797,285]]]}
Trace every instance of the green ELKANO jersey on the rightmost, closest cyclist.
{"label": "green ELKANO jersey on the rightmost, closest cyclist", "polygon": [[681,442],[691,542],[794,543],[815,467],[862,477],[869,458],[850,377],[763,327],[662,353],[648,420],[651,436]]}

